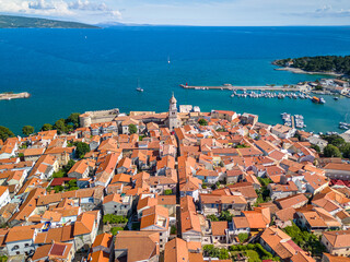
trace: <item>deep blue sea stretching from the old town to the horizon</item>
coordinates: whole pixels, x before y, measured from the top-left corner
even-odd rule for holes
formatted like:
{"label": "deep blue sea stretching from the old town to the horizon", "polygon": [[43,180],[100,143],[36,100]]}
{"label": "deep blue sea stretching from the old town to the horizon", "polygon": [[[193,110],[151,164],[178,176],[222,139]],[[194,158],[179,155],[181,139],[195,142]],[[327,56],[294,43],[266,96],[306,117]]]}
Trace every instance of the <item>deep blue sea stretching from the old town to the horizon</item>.
{"label": "deep blue sea stretching from the old town to the horizon", "polygon": [[[339,121],[350,121],[349,98],[335,102],[325,96],[325,105],[315,105],[179,87],[316,80],[323,76],[276,71],[271,61],[324,55],[350,55],[350,27],[0,29],[0,93],[32,94],[28,99],[0,100],[0,126],[20,134],[25,124],[38,130],[70,112],[165,111],[174,92],[178,104],[197,105],[202,111],[247,111],[267,123],[281,122],[284,111],[302,114],[308,131],[339,131]],[[143,93],[136,92],[138,80]]]}

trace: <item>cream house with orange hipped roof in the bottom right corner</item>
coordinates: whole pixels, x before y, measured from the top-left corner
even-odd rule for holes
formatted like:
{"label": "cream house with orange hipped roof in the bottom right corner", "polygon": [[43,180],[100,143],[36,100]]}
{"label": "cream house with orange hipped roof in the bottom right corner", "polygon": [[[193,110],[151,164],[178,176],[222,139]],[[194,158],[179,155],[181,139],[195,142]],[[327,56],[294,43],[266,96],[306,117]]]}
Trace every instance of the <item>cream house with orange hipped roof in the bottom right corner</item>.
{"label": "cream house with orange hipped roof in the bottom right corner", "polygon": [[324,231],[322,243],[327,252],[337,257],[350,257],[350,230]]}

